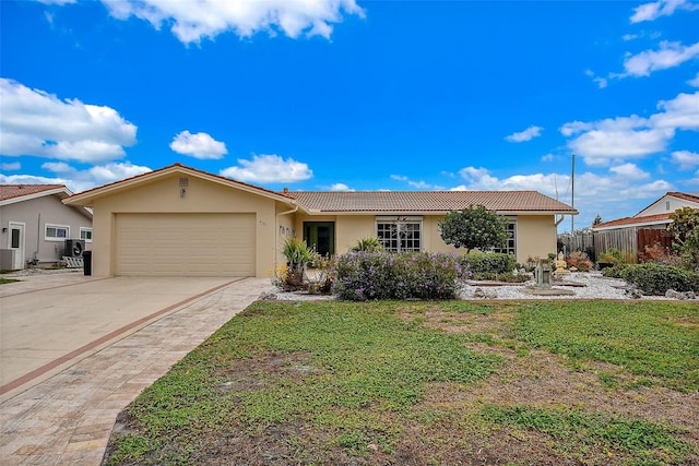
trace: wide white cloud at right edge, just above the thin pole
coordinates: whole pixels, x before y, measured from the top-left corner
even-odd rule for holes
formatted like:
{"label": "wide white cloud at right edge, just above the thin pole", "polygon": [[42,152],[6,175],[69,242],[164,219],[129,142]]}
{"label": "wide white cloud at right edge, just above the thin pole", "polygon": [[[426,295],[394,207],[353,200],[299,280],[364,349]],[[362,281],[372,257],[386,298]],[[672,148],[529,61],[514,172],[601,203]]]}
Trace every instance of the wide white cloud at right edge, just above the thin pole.
{"label": "wide white cloud at right edge, just above the thin pole", "polygon": [[636,115],[595,122],[573,121],[560,128],[576,154],[591,166],[606,166],[628,158],[643,158],[666,150],[676,130],[699,130],[699,92],[661,100],[649,118]]}

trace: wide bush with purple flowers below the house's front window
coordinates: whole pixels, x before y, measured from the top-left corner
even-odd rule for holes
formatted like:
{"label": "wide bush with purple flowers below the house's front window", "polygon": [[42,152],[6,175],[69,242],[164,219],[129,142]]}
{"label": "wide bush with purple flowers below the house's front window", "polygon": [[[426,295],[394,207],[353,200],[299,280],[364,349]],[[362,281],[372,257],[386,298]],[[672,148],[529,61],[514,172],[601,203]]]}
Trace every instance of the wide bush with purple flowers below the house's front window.
{"label": "wide bush with purple flowers below the house's front window", "polygon": [[333,292],[340,299],[452,299],[461,266],[448,254],[348,252],[337,258]]}

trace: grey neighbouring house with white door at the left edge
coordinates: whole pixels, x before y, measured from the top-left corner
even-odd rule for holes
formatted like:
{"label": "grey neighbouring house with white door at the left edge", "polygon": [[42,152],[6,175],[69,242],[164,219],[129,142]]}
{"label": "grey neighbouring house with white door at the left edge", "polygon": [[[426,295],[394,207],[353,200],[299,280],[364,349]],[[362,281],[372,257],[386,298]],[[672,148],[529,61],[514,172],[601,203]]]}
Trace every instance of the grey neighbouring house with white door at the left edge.
{"label": "grey neighbouring house with white door at the left edge", "polygon": [[92,211],[64,205],[71,194],[63,184],[0,184],[0,268],[50,265],[92,247]]}

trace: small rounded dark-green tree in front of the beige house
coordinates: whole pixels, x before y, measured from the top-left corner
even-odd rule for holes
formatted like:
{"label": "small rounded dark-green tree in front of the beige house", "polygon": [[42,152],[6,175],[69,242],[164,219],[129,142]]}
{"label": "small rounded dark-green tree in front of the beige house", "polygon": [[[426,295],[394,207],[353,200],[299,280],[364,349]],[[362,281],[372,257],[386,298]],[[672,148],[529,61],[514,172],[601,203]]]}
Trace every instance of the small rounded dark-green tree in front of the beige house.
{"label": "small rounded dark-green tree in front of the beige house", "polygon": [[447,244],[486,251],[501,248],[507,239],[508,219],[483,205],[451,211],[439,222],[439,234]]}

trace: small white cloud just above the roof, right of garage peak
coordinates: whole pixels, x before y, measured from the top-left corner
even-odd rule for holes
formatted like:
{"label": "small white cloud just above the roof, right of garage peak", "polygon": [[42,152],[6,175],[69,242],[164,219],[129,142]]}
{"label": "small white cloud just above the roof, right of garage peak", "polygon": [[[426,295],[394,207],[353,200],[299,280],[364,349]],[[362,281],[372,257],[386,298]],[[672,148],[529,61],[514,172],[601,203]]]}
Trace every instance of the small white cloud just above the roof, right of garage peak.
{"label": "small white cloud just above the roof, right of garage peak", "polygon": [[252,160],[239,158],[238,164],[221,170],[221,176],[258,183],[296,182],[313,176],[308,165],[276,154],[253,155]]}

